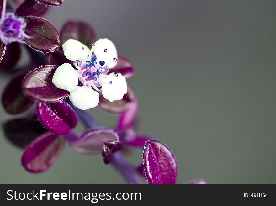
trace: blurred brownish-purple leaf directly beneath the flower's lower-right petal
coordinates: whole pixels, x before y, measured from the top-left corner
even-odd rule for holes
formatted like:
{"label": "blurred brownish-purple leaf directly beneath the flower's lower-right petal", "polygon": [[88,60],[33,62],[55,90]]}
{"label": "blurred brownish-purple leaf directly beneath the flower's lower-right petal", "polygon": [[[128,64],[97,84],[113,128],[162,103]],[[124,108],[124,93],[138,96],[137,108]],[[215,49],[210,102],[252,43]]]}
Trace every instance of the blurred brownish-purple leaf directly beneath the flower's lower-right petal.
{"label": "blurred brownish-purple leaf directly beneath the flower's lower-right petal", "polygon": [[127,87],[127,93],[123,96],[123,99],[113,102],[109,102],[109,100],[104,98],[104,96],[100,93],[98,107],[105,112],[120,114],[128,110],[134,101],[136,101],[135,94],[130,87]]}

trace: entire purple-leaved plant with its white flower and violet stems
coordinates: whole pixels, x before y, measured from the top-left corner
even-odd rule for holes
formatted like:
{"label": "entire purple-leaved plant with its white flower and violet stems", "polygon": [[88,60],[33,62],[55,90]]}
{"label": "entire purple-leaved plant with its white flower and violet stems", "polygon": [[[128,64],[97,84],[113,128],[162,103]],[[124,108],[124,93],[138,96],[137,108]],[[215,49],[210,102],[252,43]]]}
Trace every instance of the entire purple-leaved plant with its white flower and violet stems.
{"label": "entire purple-leaved plant with its white flower and violet stems", "polygon": [[[111,40],[96,40],[89,24],[67,22],[59,34],[39,17],[49,6],[62,3],[25,0],[15,12],[6,13],[8,4],[3,0],[1,66],[15,68],[10,53],[20,52],[19,43],[28,46],[31,56],[29,64],[11,78],[2,94],[6,112],[22,114],[3,125],[8,140],[24,148],[22,165],[32,173],[46,171],[58,160],[67,142],[79,153],[102,155],[104,163],[112,164],[127,183],[141,183],[137,178],[140,174],[149,184],[175,184],[178,166],[173,152],[163,142],[134,131],[138,99],[126,83],[134,73],[132,64],[117,55]],[[47,54],[41,56],[36,51]],[[85,111],[96,106],[118,115],[114,128],[98,124]],[[86,130],[75,134],[78,120]],[[134,147],[143,149],[142,160],[135,166],[120,155]],[[187,184],[203,183],[207,182],[196,179]]]}

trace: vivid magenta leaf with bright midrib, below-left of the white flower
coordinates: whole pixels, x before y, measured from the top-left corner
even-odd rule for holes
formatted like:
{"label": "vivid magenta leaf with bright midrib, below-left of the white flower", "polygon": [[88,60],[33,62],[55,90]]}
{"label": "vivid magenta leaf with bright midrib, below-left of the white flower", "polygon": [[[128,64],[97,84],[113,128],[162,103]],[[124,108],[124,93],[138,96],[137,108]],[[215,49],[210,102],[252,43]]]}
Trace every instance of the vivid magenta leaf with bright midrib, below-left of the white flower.
{"label": "vivid magenta leaf with bright midrib, below-left of the white flower", "polygon": [[37,103],[36,112],[40,123],[56,135],[65,135],[77,125],[77,114],[64,101]]}

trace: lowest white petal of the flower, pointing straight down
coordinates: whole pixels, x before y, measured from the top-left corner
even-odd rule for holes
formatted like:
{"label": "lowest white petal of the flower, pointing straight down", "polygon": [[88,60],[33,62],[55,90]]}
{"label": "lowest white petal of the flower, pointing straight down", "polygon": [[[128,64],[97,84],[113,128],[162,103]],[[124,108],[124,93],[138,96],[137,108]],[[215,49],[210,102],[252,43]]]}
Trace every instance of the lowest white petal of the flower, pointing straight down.
{"label": "lowest white petal of the flower, pointing straight down", "polygon": [[86,110],[98,106],[99,93],[90,85],[83,85],[71,91],[69,99],[78,109]]}

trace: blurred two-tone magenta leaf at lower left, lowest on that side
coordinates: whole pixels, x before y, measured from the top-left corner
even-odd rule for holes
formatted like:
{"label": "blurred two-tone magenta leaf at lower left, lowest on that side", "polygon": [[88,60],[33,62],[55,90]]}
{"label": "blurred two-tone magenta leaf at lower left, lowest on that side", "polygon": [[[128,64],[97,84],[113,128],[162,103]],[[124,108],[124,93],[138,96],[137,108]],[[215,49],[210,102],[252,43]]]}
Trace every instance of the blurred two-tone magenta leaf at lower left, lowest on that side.
{"label": "blurred two-tone magenta leaf at lower left, lowest on that side", "polygon": [[44,172],[57,161],[64,145],[63,136],[47,132],[36,138],[25,149],[21,160],[22,165],[29,172]]}

